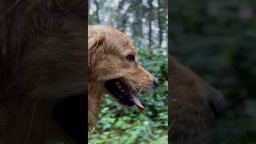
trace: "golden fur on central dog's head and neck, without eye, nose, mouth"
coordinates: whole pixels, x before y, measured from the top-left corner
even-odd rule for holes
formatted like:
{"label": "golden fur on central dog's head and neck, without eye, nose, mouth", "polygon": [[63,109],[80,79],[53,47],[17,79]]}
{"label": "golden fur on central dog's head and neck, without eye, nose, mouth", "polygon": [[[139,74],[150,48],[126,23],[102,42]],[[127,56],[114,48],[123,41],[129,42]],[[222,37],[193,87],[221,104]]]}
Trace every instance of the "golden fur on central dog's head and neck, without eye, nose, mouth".
{"label": "golden fur on central dog's head and neck, without eye, nose, mouth", "polygon": [[104,83],[122,78],[126,85],[142,86],[142,91],[152,90],[154,77],[135,62],[127,62],[127,54],[137,55],[133,43],[122,32],[106,26],[88,26],[88,126],[97,122],[102,108],[102,94],[107,94]]}

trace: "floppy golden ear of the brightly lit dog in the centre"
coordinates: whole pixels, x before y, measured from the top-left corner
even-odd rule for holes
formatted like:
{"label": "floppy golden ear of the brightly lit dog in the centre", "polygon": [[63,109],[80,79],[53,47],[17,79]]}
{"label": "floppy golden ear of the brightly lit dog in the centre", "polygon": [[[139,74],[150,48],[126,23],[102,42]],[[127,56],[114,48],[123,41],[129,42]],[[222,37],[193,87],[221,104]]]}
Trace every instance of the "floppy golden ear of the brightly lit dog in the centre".
{"label": "floppy golden ear of the brightly lit dog in the centre", "polygon": [[105,38],[102,34],[98,34],[97,31],[91,30],[90,28],[88,31],[88,64],[90,75],[100,60],[100,56],[102,55],[100,53],[104,50]]}

